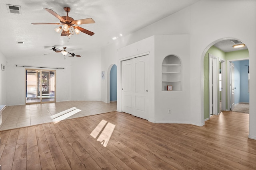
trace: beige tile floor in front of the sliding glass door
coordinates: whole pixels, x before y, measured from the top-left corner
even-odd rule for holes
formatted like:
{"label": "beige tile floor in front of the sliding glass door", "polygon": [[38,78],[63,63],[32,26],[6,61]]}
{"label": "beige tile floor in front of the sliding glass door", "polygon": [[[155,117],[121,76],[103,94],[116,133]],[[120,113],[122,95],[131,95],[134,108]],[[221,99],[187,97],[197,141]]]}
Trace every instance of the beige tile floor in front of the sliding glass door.
{"label": "beige tile floor in front of the sliding glass door", "polygon": [[67,101],[7,106],[2,112],[2,124],[0,125],[0,131],[48,123],[52,121],[50,116],[72,107],[76,107],[81,111],[67,119],[116,111],[116,102]]}

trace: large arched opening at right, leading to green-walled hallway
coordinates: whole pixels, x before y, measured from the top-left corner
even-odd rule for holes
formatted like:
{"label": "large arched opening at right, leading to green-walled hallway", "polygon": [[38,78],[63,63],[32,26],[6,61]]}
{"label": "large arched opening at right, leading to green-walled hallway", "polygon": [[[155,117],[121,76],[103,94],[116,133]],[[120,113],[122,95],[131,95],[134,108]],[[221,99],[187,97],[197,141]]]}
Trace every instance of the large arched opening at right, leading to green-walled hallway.
{"label": "large arched opening at right, leading to green-walled hallway", "polygon": [[[244,43],[234,38],[223,38],[205,49],[204,121],[222,110],[235,111],[236,104],[246,103],[249,108],[249,53],[246,45],[234,48],[237,44]],[[235,71],[232,71],[234,64]]]}

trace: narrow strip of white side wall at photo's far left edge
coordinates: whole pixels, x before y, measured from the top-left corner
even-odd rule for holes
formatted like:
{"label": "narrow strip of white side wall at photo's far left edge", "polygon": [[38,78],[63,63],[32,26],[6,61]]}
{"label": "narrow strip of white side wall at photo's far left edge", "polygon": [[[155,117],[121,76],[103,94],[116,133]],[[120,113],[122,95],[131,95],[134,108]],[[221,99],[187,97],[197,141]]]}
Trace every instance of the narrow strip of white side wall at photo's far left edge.
{"label": "narrow strip of white side wall at photo's far left edge", "polygon": [[[6,65],[6,58],[0,52],[0,64]],[[6,104],[6,70],[0,70],[0,105]]]}

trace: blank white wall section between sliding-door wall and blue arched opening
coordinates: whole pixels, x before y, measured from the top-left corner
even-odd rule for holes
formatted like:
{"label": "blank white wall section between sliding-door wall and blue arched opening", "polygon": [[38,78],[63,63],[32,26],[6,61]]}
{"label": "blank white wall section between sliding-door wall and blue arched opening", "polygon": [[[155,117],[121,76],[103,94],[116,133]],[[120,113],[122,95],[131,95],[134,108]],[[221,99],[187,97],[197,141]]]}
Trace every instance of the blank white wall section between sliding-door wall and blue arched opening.
{"label": "blank white wall section between sliding-door wall and blue arched opening", "polygon": [[72,57],[71,100],[101,100],[100,60],[100,51]]}

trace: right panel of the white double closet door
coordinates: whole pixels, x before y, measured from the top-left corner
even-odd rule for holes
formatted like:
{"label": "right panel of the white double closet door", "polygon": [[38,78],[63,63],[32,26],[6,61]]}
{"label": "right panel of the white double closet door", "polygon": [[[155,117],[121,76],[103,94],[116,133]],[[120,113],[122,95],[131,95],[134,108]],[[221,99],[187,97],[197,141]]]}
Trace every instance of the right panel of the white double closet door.
{"label": "right panel of the white double closet door", "polygon": [[133,115],[148,120],[148,56],[133,59]]}

